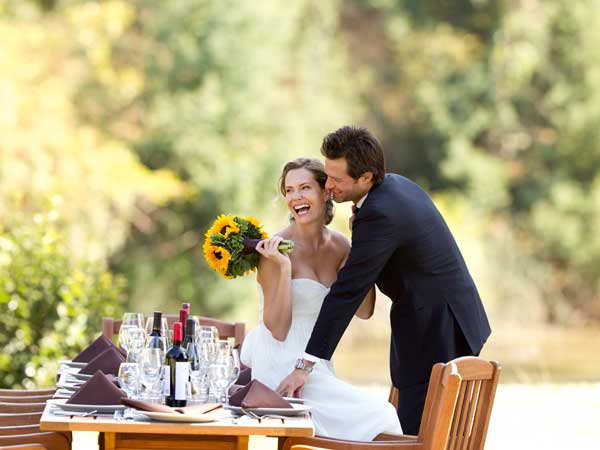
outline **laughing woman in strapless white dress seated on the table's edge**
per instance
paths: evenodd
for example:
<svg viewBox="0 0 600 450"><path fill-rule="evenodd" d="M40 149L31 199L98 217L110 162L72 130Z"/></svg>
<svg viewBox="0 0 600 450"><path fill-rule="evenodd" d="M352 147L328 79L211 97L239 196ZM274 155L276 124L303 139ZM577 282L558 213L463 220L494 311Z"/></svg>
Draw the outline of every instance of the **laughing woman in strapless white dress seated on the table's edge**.
<svg viewBox="0 0 600 450"><path fill-rule="evenodd" d="M326 227L333 203L325 191L327 175L316 159L288 162L280 190L290 211L290 225L256 247L260 323L244 340L241 359L252 367L252 377L276 389L304 352L323 299L350 252L348 239ZM277 250L283 239L294 241L294 251ZM356 315L373 314L372 288ZM335 377L331 361L321 360L304 386L302 397L312 407L316 434L338 439L369 441L379 433L401 433L394 407Z"/></svg>

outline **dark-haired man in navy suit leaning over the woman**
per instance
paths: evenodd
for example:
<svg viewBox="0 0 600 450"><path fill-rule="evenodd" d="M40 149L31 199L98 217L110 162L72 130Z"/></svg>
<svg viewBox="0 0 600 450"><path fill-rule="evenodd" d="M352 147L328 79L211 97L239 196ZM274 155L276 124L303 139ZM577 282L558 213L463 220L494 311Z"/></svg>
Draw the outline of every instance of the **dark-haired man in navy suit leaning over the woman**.
<svg viewBox="0 0 600 450"><path fill-rule="evenodd" d="M446 222L415 183L385 173L379 141L346 126L321 146L326 188L352 201L352 249L324 300L295 370L277 391L299 393L319 359L330 359L369 288L392 300L390 370L403 432L419 433L431 368L478 355L490 335L475 283ZM361 364L360 360L356 364Z"/></svg>

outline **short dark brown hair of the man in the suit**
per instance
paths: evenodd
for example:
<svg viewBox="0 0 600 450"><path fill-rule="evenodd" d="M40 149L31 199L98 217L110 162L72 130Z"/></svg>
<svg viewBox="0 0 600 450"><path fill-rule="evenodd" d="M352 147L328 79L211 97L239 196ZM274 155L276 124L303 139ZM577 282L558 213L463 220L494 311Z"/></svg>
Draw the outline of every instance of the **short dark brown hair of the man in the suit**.
<svg viewBox="0 0 600 450"><path fill-rule="evenodd" d="M357 180L365 172L373 173L373 184L385 176L385 158L377 138L365 127L345 126L329 133L321 144L327 159L346 158L348 175Z"/></svg>

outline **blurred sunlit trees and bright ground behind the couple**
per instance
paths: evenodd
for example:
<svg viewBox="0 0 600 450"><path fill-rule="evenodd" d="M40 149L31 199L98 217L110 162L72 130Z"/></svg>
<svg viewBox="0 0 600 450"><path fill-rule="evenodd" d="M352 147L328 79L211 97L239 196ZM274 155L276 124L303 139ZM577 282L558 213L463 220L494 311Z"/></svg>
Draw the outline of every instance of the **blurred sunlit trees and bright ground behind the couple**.
<svg viewBox="0 0 600 450"><path fill-rule="evenodd" d="M0 1L0 387L50 384L126 310L255 325L254 276L212 272L204 231L285 226L282 165L362 124L484 300L487 448L598 448L599 42L598 0ZM381 395L388 312L335 355Z"/></svg>

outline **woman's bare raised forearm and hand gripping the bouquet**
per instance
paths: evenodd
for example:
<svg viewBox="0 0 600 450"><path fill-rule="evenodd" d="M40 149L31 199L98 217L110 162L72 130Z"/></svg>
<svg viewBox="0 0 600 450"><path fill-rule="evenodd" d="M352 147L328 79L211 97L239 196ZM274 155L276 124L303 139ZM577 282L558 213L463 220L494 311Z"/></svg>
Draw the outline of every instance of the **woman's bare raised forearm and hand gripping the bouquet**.
<svg viewBox="0 0 600 450"><path fill-rule="evenodd" d="M282 240L274 236L256 246L261 254L257 280L264 295L263 322L278 341L285 340L292 324L292 264L277 250Z"/></svg>

